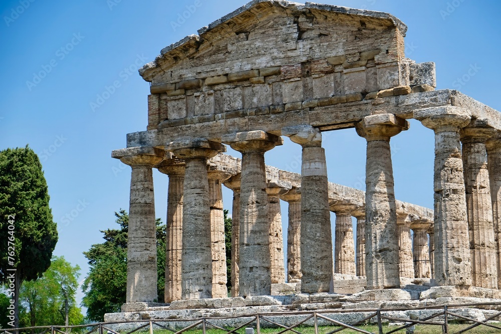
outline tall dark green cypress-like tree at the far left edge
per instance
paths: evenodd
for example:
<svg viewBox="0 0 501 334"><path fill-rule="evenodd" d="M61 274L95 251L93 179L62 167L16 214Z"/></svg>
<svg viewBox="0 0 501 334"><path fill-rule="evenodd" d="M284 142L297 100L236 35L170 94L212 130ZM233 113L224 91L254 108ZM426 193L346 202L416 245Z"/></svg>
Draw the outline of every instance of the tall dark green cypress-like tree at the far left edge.
<svg viewBox="0 0 501 334"><path fill-rule="evenodd" d="M0 283L12 283L13 271L8 269L17 269L16 309L21 284L41 277L49 268L57 240L38 156L28 146L0 151Z"/></svg>

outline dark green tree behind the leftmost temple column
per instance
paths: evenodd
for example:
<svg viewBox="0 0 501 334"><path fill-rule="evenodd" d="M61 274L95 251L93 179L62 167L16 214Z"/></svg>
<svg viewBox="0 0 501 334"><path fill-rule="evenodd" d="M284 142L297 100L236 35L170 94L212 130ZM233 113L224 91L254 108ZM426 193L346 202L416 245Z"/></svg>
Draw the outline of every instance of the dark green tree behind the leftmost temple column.
<svg viewBox="0 0 501 334"><path fill-rule="evenodd" d="M101 231L105 242L84 252L91 268L82 285L85 293L82 305L87 307L87 318L93 321L103 321L105 313L120 312L126 300L129 216L125 210L115 212L115 216L120 229ZM165 225L160 219L156 225L158 300L164 300Z"/></svg>

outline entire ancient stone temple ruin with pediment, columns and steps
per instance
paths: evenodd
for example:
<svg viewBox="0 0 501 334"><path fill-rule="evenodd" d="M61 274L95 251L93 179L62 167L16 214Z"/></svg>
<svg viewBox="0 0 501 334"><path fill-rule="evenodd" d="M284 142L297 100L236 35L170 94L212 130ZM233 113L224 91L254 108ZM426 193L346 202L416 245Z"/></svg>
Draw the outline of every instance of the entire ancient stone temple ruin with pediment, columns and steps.
<svg viewBox="0 0 501 334"><path fill-rule="evenodd" d="M435 90L435 65L405 58L406 30L380 12L254 0L145 65L147 130L112 153L132 178L127 302L106 319L501 299L501 114ZM435 132L434 212L394 196L390 138L406 119ZM327 179L322 132L347 128L367 140L365 192ZM303 148L301 175L265 165L283 137ZM165 304L153 168L169 177ZM231 298L222 185L234 193Z"/></svg>

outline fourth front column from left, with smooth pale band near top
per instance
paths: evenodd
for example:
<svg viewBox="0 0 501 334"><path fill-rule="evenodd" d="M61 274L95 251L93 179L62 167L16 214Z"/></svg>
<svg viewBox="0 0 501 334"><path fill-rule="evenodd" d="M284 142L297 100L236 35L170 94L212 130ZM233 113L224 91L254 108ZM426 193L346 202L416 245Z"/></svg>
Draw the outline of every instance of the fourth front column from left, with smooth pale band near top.
<svg viewBox="0 0 501 334"><path fill-rule="evenodd" d="M325 151L320 131L309 125L282 129L303 147L301 168L301 291L329 292L332 232Z"/></svg>

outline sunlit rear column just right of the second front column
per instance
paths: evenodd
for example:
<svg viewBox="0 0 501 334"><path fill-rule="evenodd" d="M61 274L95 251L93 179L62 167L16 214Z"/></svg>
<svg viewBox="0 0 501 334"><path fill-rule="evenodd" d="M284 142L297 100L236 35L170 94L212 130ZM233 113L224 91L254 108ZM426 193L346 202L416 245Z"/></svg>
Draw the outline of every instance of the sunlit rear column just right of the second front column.
<svg viewBox="0 0 501 334"><path fill-rule="evenodd" d="M224 212L222 182L231 174L209 171L210 240L212 243L212 298L228 296L226 287L226 243L224 240Z"/></svg>

